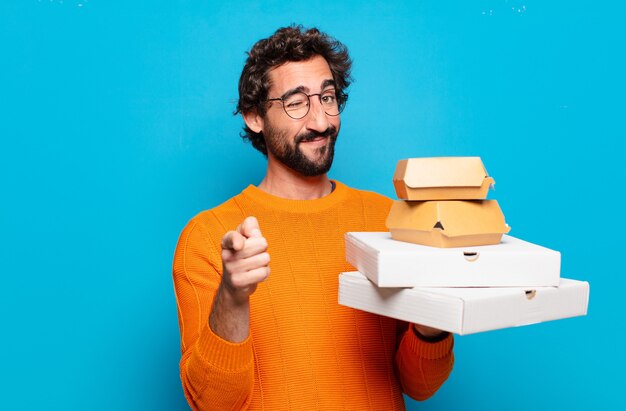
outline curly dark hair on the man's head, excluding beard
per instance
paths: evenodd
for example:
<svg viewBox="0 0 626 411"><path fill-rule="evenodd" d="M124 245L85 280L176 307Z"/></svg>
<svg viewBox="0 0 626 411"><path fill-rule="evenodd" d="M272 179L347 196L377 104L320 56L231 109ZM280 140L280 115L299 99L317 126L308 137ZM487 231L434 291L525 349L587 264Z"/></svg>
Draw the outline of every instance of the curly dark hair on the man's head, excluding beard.
<svg viewBox="0 0 626 411"><path fill-rule="evenodd" d="M282 27L270 37L259 40L247 53L248 58L239 78L239 102L235 114L256 110L265 116L263 102L267 100L270 87L269 72L272 68L291 61L306 61L322 56L330 67L338 97L351 82L352 60L345 45L320 32L316 28L305 30L301 25ZM250 140L254 148L267 156L263 133L255 133L244 125L241 137Z"/></svg>

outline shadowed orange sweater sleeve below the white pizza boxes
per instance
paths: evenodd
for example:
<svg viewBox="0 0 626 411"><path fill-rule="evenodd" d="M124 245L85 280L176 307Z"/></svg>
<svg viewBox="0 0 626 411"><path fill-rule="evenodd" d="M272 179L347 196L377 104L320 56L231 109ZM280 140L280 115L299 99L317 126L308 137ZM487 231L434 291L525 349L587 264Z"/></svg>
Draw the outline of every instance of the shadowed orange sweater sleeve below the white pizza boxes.
<svg viewBox="0 0 626 411"><path fill-rule="evenodd" d="M423 401L435 394L452 372L454 337L449 334L431 343L417 337L412 326L404 329L396 352L396 370L404 393Z"/></svg>

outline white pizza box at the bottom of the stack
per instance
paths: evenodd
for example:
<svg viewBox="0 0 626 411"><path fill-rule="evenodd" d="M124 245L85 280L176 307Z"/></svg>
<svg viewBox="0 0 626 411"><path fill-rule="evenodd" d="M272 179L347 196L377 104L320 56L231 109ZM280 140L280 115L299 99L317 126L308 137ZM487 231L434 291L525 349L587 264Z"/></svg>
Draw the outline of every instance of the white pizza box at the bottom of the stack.
<svg viewBox="0 0 626 411"><path fill-rule="evenodd" d="M339 276L339 304L455 334L587 314L589 283L558 287L380 288L359 272Z"/></svg>

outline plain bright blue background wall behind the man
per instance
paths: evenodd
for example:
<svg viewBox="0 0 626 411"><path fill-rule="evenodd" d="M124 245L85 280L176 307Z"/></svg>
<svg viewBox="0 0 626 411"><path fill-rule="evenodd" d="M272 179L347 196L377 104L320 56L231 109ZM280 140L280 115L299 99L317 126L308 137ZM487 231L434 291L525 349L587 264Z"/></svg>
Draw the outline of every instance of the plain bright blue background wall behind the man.
<svg viewBox="0 0 626 411"><path fill-rule="evenodd" d="M511 234L591 283L586 317L457 337L448 382L408 408L625 409L625 13L3 0L0 408L186 409L174 247L193 215L260 182L232 115L244 51L299 22L354 59L332 178L393 197L401 158L480 156Z"/></svg>

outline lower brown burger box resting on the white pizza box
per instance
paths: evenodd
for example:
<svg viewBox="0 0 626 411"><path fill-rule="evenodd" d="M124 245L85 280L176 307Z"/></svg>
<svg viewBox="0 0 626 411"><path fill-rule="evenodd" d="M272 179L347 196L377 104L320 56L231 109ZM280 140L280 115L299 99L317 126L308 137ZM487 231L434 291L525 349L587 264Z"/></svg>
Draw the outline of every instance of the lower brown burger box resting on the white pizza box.
<svg viewBox="0 0 626 411"><path fill-rule="evenodd" d="M496 200L396 200L387 228L394 240L442 248L498 244L511 229Z"/></svg>

